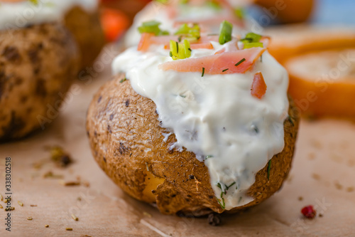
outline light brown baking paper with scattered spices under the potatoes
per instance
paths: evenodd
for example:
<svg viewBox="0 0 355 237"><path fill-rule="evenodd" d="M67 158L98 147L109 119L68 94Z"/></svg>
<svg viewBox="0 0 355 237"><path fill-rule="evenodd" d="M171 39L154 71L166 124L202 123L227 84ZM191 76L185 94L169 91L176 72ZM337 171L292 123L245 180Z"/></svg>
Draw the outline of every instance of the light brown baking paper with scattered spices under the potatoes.
<svg viewBox="0 0 355 237"><path fill-rule="evenodd" d="M107 69L89 83L75 83L80 90L76 88L59 117L44 131L0 144L0 194L5 192L4 159L11 157L16 208L11 212L11 233L5 231L6 212L0 209L0 236L354 236L353 123L302 120L293 169L283 189L242 214L223 215L222 226L209 226L207 218L165 216L131 199L94 162L85 115L92 95L109 80L109 74ZM63 147L75 163L65 169L56 167L46 148L53 145ZM40 169L34 165L38 163ZM79 176L89 186L62 186L58 179L43 178L49 171L62 174L65 181ZM5 206L3 201L0 204ZM302 218L300 209L310 204L322 217ZM28 216L33 220L28 221Z"/></svg>

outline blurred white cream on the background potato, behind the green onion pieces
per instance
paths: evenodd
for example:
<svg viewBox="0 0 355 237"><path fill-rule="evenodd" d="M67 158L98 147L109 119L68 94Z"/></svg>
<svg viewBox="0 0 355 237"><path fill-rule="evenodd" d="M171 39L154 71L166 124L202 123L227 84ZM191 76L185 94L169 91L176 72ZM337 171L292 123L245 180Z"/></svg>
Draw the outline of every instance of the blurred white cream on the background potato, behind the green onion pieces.
<svg viewBox="0 0 355 237"><path fill-rule="evenodd" d="M129 28L126 36L124 37L124 45L126 47L138 45L141 40L141 34L138 32L138 27L145 21L159 21L159 27L162 30L175 33L178 29L174 26L176 21L203 21L212 19L216 16L220 16L222 18L223 16L231 15L226 9L214 9L211 6L185 6L184 4L178 4L177 8L178 16L175 19L171 19L164 4L152 1L135 16L133 25ZM219 33L219 23L221 22L222 19L221 21L217 21L214 26L209 24L209 33ZM248 26L246 26L246 28L249 28L249 22L247 24ZM241 28L239 26L234 26L234 32L240 30Z"/></svg>

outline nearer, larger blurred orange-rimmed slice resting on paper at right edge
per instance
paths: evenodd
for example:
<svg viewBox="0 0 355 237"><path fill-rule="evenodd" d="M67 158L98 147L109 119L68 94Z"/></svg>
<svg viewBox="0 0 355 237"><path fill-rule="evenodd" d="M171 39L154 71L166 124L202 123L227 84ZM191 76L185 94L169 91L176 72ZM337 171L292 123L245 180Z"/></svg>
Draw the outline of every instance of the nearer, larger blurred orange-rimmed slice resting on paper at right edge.
<svg viewBox="0 0 355 237"><path fill-rule="evenodd" d="M355 118L355 47L303 53L283 64L302 113Z"/></svg>

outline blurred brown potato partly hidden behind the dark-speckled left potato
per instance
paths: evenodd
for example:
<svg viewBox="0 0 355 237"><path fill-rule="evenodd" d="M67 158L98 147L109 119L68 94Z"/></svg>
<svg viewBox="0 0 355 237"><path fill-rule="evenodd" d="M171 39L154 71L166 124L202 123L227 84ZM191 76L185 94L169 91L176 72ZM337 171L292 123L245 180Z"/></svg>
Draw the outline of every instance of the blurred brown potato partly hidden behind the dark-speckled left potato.
<svg viewBox="0 0 355 237"><path fill-rule="evenodd" d="M80 68L91 66L105 44L98 12L90 13L80 6L75 6L65 15L64 23L80 48Z"/></svg>

